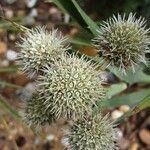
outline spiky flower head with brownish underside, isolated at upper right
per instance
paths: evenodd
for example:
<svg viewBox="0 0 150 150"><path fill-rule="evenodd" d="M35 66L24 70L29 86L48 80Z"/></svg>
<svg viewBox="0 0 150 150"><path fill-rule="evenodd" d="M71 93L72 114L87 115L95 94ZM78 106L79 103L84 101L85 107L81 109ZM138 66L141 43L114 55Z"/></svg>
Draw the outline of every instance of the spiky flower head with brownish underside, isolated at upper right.
<svg viewBox="0 0 150 150"><path fill-rule="evenodd" d="M140 62L146 63L145 53L150 52L150 38L145 22L130 13L128 18L118 14L102 24L94 42L107 65L125 73L130 67L134 71L135 65Z"/></svg>

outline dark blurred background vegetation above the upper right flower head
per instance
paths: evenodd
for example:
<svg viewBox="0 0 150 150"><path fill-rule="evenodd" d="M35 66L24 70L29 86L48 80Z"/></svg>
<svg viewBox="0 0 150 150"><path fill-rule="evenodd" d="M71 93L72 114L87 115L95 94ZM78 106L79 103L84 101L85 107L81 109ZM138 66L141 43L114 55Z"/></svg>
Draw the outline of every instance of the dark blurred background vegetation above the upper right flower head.
<svg viewBox="0 0 150 150"><path fill-rule="evenodd" d="M80 6L96 20L106 20L112 14L136 13L150 26L150 0L77 0Z"/></svg>

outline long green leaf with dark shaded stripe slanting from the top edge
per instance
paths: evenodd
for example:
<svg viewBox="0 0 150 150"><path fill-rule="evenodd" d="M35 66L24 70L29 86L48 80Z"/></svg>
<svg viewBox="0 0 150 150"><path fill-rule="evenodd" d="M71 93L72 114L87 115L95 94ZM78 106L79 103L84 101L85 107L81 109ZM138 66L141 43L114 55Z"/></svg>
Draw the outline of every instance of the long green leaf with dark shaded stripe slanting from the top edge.
<svg viewBox="0 0 150 150"><path fill-rule="evenodd" d="M86 15L86 13L80 8L75 0L47 0L48 2L54 2L60 9L67 12L77 23L90 30L94 35L97 35L98 25L92 21L92 19Z"/></svg>

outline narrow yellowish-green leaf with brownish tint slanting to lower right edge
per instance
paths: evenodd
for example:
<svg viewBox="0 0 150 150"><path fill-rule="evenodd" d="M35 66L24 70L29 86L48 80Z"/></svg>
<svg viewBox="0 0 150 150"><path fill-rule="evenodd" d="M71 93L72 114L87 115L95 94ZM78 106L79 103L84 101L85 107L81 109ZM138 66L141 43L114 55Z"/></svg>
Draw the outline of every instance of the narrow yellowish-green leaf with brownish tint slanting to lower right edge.
<svg viewBox="0 0 150 150"><path fill-rule="evenodd" d="M120 123L121 121L125 120L127 117L135 115L136 113L140 112L141 110L150 107L150 95L144 98L141 102L139 102L135 107L133 107L130 111L125 113L123 116L116 120L116 123Z"/></svg>

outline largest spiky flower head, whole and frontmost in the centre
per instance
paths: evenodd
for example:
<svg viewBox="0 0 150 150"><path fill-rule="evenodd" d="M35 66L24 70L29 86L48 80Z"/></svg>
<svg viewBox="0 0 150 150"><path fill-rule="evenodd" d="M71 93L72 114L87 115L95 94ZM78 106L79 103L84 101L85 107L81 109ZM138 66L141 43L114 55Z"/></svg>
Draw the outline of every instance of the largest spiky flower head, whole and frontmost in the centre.
<svg viewBox="0 0 150 150"><path fill-rule="evenodd" d="M76 118L91 111L97 100L104 97L99 72L91 61L65 56L43 69L38 85L45 106L52 108L56 118Z"/></svg>

